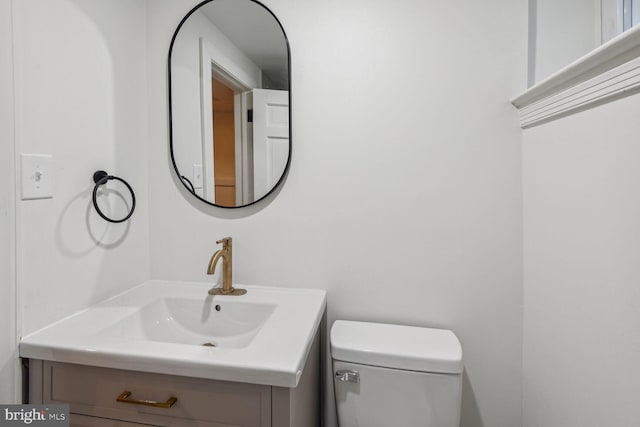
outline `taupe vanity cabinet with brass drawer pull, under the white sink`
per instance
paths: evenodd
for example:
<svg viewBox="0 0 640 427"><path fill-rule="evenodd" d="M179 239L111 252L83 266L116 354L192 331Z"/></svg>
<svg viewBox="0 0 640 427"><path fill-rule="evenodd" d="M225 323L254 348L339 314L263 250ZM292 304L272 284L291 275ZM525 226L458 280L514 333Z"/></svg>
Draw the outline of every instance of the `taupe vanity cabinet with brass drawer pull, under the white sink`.
<svg viewBox="0 0 640 427"><path fill-rule="evenodd" d="M31 359L31 404L69 404L72 426L318 427L320 345L314 340L298 387L285 388ZM166 402L170 408L118 402Z"/></svg>

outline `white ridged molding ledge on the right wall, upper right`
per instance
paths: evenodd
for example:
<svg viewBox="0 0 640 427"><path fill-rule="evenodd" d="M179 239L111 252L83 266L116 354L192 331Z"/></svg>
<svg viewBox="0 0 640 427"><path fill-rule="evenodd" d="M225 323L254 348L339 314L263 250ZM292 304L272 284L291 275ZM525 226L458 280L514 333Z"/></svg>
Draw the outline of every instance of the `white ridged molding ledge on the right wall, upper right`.
<svg viewBox="0 0 640 427"><path fill-rule="evenodd" d="M640 91L640 26L511 100L527 128Z"/></svg>

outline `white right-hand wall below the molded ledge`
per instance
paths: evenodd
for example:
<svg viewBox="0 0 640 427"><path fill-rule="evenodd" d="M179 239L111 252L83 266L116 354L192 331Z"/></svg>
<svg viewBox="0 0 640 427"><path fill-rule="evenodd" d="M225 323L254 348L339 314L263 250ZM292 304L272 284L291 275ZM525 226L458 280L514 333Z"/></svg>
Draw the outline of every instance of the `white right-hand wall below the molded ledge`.
<svg viewBox="0 0 640 427"><path fill-rule="evenodd" d="M524 132L525 427L638 425L639 110Z"/></svg>

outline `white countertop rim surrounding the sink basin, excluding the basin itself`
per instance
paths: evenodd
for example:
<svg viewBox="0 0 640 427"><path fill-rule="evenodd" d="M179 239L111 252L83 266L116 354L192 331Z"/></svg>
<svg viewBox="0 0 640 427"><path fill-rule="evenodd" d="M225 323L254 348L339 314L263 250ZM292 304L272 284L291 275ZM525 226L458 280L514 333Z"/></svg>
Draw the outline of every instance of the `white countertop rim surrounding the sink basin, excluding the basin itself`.
<svg viewBox="0 0 640 427"><path fill-rule="evenodd" d="M318 289L236 287L243 296L208 296L207 283L152 280L75 313L22 339L20 356L106 368L296 387L326 307ZM131 339L102 334L162 298L202 300L213 310L225 301L275 304L242 348Z"/></svg>

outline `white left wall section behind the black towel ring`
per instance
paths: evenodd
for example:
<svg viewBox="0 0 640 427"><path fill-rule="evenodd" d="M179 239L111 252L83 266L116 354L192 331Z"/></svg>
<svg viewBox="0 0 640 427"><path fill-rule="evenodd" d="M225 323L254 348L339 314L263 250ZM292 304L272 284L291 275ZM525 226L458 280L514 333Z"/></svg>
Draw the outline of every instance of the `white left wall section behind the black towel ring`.
<svg viewBox="0 0 640 427"><path fill-rule="evenodd" d="M149 276L145 2L13 3L17 150L52 154L56 165L53 199L18 202L27 334ZM98 169L136 190L126 225L93 210Z"/></svg>

